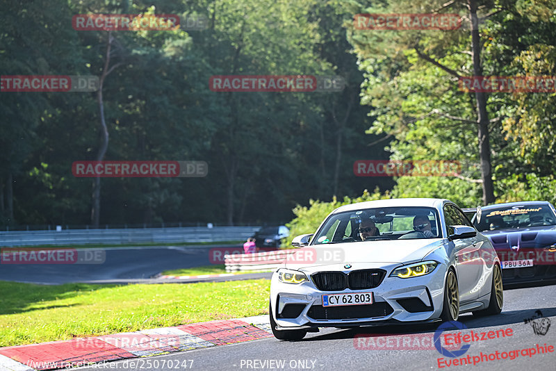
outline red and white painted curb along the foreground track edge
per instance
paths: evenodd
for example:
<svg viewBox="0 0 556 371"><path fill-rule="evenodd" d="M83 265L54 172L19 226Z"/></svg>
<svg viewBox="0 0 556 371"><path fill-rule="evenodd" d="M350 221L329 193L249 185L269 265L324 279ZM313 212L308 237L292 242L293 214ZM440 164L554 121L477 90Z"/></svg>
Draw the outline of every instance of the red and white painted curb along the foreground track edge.
<svg viewBox="0 0 556 371"><path fill-rule="evenodd" d="M0 348L0 371L56 370L272 337L268 315Z"/></svg>

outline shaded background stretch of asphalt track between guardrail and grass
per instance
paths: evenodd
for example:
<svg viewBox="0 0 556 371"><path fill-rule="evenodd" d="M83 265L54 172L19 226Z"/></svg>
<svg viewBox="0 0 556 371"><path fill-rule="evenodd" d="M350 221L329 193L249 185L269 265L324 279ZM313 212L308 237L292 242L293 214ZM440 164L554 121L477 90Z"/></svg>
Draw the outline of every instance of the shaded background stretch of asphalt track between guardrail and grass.
<svg viewBox="0 0 556 371"><path fill-rule="evenodd" d="M207 246L114 247L101 249L106 252L101 264L0 264L0 281L159 283L161 280L150 278L163 270L210 265L210 249Z"/></svg>

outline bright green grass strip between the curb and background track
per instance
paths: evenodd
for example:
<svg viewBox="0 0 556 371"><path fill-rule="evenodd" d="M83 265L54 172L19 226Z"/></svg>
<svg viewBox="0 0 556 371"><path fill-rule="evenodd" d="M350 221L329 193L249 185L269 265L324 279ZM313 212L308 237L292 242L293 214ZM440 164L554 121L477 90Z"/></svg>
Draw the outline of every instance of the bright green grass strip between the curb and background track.
<svg viewBox="0 0 556 371"><path fill-rule="evenodd" d="M40 286L0 281L0 347L268 313L270 281Z"/></svg>

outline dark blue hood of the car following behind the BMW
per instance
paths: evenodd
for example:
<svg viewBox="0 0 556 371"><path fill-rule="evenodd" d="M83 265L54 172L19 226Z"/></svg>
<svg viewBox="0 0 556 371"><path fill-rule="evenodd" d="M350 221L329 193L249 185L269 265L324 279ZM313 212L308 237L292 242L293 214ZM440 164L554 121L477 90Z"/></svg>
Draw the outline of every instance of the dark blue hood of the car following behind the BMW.
<svg viewBox="0 0 556 371"><path fill-rule="evenodd" d="M556 226L532 226L523 229L502 229L481 232L497 250L536 249L556 243Z"/></svg>

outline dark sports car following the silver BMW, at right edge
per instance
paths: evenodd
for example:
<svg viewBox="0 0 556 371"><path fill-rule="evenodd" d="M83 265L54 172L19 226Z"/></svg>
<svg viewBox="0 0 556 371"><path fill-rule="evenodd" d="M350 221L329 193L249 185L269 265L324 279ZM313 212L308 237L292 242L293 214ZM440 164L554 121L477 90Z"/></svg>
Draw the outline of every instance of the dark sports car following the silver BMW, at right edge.
<svg viewBox="0 0 556 371"><path fill-rule="evenodd" d="M472 221L496 249L504 284L556 281L556 209L550 202L483 206Z"/></svg>

